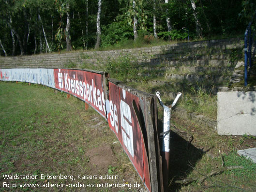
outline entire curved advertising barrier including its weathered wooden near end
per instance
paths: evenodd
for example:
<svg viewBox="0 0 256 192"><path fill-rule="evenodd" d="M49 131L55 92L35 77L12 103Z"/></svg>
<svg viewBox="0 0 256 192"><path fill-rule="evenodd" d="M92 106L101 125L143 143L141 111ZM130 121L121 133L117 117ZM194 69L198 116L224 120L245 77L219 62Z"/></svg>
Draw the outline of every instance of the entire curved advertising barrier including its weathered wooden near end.
<svg viewBox="0 0 256 192"><path fill-rule="evenodd" d="M91 70L0 69L0 80L45 85L90 104L108 121L146 188L164 191L154 95Z"/></svg>

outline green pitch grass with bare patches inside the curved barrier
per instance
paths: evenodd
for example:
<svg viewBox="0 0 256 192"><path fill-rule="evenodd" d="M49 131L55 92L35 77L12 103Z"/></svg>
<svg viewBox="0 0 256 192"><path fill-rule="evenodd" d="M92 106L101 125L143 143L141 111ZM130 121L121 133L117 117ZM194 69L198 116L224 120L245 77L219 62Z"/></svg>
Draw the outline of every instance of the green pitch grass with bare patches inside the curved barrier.
<svg viewBox="0 0 256 192"><path fill-rule="evenodd" d="M107 122L84 102L41 85L0 82L0 191L128 191L128 188L3 188L5 183L46 185L131 183L142 186ZM4 179L3 174L36 179ZM41 177L74 176L51 179ZM77 175L115 179L78 179ZM138 190L132 188L131 190Z"/></svg>

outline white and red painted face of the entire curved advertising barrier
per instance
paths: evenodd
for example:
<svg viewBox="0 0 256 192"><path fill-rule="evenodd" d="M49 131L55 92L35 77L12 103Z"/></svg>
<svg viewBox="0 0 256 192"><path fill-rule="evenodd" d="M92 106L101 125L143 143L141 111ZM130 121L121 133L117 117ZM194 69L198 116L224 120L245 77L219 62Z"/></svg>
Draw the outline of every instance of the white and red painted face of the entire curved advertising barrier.
<svg viewBox="0 0 256 192"><path fill-rule="evenodd" d="M141 121L144 119L137 117L138 114L136 114L143 114L139 110L141 110L140 103L144 101L139 96L109 81L109 100L107 100L105 74L84 70L0 69L0 80L42 84L70 93L90 104L107 119L111 130L116 134L145 186L151 191L147 144L143 139L147 136L143 137L142 129L144 128L140 127L142 125L138 122L138 119Z"/></svg>

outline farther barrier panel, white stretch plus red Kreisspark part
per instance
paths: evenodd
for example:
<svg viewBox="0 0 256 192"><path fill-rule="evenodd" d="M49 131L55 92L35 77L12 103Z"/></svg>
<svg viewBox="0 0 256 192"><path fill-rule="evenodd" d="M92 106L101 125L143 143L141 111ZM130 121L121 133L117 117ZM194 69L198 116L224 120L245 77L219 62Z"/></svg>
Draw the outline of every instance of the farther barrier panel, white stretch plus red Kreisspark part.
<svg viewBox="0 0 256 192"><path fill-rule="evenodd" d="M106 118L104 74L70 69L0 69L0 80L45 85L65 91L90 104Z"/></svg>

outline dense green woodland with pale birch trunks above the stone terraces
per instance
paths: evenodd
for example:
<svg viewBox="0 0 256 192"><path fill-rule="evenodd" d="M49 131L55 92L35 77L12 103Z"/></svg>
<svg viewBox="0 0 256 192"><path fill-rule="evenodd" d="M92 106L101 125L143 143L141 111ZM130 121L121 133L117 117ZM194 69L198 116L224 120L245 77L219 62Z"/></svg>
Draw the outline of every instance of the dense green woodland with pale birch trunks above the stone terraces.
<svg viewBox="0 0 256 192"><path fill-rule="evenodd" d="M182 40L188 32L190 39L242 35L255 1L1 0L0 55L107 47L144 36Z"/></svg>

